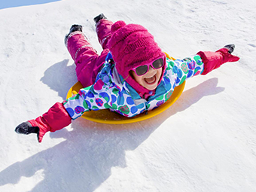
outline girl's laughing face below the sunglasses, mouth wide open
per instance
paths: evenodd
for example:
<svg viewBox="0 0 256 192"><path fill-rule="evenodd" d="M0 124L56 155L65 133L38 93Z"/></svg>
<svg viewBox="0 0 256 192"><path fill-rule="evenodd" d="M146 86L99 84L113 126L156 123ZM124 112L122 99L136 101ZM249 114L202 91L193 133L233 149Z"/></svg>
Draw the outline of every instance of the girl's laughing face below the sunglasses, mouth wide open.
<svg viewBox="0 0 256 192"><path fill-rule="evenodd" d="M160 69L153 69L150 66L148 72L142 76L136 75L136 72L131 72L135 81L137 81L142 87L145 87L148 90L155 90L157 88L158 82L160 81L163 67Z"/></svg>

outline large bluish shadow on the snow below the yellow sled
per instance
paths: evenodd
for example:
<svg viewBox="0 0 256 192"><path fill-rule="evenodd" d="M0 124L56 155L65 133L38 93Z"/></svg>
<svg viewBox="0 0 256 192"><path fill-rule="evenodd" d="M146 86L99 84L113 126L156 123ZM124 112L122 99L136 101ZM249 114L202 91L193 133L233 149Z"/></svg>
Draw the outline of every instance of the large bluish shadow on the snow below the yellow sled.
<svg viewBox="0 0 256 192"><path fill-rule="evenodd" d="M66 61L60 63L57 68L66 65ZM217 87L217 84L218 78L212 78L184 91L171 108L147 121L102 127L101 123L82 118L75 120L72 131L63 129L50 133L51 138L66 141L2 170L0 186L18 184L22 177L35 176L42 170L43 180L30 192L94 191L108 179L113 167L126 167L126 151L138 148L166 119L194 105L203 96L224 91L224 87Z"/></svg>

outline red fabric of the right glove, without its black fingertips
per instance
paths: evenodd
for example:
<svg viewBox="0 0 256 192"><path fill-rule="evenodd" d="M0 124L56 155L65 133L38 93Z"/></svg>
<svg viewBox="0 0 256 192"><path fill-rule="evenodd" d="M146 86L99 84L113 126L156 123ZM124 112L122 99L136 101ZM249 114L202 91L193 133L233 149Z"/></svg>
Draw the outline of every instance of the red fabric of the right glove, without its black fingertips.
<svg viewBox="0 0 256 192"><path fill-rule="evenodd" d="M226 48L217 50L216 52L212 51L200 51L197 53L202 58L204 64L204 70L202 75L206 75L212 70L219 68L225 62L236 62L240 58L238 56L233 56L228 53Z"/></svg>

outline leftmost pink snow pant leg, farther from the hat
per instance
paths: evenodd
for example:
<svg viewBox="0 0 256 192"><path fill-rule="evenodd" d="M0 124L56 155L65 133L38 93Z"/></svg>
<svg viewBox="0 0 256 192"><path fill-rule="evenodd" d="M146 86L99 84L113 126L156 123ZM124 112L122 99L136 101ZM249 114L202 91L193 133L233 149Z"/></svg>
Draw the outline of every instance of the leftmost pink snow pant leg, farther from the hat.
<svg viewBox="0 0 256 192"><path fill-rule="evenodd" d="M67 48L75 61L78 81L84 87L94 84L109 50L103 50L99 56L82 32L69 35Z"/></svg>

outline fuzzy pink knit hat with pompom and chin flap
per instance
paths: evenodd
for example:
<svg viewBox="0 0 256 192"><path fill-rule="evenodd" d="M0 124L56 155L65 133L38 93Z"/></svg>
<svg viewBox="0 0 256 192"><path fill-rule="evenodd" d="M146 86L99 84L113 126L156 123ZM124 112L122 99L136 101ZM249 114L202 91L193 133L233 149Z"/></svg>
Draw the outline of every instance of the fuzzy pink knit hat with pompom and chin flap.
<svg viewBox="0 0 256 192"><path fill-rule="evenodd" d="M111 33L108 48L116 63L117 72L137 92L144 95L149 90L133 80L129 76L129 72L136 66L142 66L160 56L165 56L165 53L158 47L153 35L143 26L137 24L126 25L124 21L120 20L111 26ZM163 78L163 75L161 78Z"/></svg>

